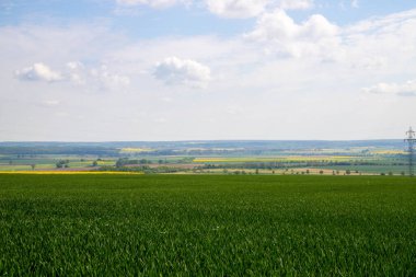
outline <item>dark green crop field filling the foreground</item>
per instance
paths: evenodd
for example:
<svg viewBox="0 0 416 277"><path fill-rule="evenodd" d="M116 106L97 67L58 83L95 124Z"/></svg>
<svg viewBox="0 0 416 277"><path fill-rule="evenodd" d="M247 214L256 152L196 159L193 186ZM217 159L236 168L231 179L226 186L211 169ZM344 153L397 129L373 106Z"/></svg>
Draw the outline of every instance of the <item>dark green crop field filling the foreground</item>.
<svg viewBox="0 0 416 277"><path fill-rule="evenodd" d="M0 174L0 276L415 276L416 180Z"/></svg>

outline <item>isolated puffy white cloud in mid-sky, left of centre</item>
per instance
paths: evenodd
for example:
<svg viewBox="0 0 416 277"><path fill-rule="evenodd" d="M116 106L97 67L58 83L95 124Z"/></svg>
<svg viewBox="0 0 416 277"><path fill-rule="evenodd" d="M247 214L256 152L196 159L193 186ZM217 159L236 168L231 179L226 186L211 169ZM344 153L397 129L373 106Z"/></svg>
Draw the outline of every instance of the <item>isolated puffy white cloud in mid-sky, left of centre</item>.
<svg viewBox="0 0 416 277"><path fill-rule="evenodd" d="M209 67L192 59L170 57L157 64L154 77L165 84L206 88L211 79Z"/></svg>

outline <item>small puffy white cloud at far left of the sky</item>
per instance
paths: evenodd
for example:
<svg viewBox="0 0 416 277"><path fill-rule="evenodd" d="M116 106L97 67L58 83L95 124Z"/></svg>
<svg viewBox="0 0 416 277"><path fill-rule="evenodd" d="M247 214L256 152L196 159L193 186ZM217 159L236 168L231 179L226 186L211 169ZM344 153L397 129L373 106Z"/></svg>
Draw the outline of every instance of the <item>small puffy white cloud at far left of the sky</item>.
<svg viewBox="0 0 416 277"><path fill-rule="evenodd" d="M25 81L55 82L62 80L60 72L51 70L47 65L43 62L36 62L33 66L16 70L15 76L20 80Z"/></svg>

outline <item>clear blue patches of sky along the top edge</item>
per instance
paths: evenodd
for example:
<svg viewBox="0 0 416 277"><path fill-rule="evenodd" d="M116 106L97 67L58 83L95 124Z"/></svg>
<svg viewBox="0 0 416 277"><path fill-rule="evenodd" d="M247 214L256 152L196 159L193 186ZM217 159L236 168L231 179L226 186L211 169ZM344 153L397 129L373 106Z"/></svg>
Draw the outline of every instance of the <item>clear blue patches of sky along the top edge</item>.
<svg viewBox="0 0 416 277"><path fill-rule="evenodd" d="M383 16L416 7L412 0L360 0L357 5L350 0L320 0L307 10L291 10L288 13L303 21L313 13L322 13L338 25L354 24L371 16ZM163 35L238 35L251 28L255 18L224 19L216 16L198 1L188 5L173 5L169 9L152 9L146 4L120 5L104 0L3 0L0 3L0 24L57 24L105 21L115 30L128 32L135 38Z"/></svg>

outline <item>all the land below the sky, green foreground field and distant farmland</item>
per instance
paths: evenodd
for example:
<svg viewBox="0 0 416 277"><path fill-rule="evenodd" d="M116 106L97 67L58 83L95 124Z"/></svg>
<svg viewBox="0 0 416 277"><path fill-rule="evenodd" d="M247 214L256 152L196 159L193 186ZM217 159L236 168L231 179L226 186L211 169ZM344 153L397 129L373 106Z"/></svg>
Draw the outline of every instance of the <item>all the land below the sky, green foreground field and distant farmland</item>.
<svg viewBox="0 0 416 277"><path fill-rule="evenodd" d="M0 274L413 276L403 143L3 142Z"/></svg>

